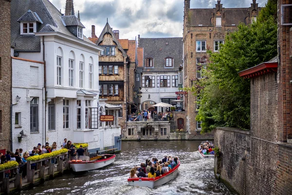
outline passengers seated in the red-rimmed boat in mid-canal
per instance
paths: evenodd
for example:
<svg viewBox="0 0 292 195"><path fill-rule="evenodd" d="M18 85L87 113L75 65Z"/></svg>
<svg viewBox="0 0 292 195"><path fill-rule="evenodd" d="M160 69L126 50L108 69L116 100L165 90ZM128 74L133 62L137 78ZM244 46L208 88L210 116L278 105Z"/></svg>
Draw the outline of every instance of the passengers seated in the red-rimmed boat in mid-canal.
<svg viewBox="0 0 292 195"><path fill-rule="evenodd" d="M178 157L164 156L160 161L153 157L152 160L146 159L146 163L142 162L140 167L136 166L131 169L129 178L155 178L164 175L177 165Z"/></svg>

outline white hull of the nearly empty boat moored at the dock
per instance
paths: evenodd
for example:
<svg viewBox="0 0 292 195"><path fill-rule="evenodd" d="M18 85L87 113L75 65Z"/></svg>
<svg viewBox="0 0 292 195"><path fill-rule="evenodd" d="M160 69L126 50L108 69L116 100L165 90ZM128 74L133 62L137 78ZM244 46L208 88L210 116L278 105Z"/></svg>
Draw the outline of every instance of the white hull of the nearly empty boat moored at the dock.
<svg viewBox="0 0 292 195"><path fill-rule="evenodd" d="M82 162L69 162L74 172L89 171L93 169L99 169L108 166L114 162L115 155L110 158L94 161L82 161Z"/></svg>

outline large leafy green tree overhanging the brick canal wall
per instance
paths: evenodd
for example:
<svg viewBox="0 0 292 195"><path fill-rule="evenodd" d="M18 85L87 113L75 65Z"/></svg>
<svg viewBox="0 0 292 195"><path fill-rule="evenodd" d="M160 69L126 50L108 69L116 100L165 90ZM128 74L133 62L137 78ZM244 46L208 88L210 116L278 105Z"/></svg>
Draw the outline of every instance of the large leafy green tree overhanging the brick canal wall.
<svg viewBox="0 0 292 195"><path fill-rule="evenodd" d="M202 121L201 133L215 127L250 128L250 80L238 72L268 61L277 55L277 24L273 17L251 25L239 25L226 36L220 52L208 51L209 64L204 78L189 89L200 95L196 120Z"/></svg>

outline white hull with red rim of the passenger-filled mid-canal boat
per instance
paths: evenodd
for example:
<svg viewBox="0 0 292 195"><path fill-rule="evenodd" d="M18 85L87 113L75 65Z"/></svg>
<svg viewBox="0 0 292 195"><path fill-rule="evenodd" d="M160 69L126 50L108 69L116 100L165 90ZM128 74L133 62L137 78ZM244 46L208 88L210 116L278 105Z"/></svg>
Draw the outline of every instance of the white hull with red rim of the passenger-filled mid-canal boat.
<svg viewBox="0 0 292 195"><path fill-rule="evenodd" d="M155 186L163 185L164 183L176 178L179 171L181 162L178 161L178 165L171 169L168 173L155 178L141 177L141 178L128 178L128 184L130 186L144 186L148 188L154 188Z"/></svg>

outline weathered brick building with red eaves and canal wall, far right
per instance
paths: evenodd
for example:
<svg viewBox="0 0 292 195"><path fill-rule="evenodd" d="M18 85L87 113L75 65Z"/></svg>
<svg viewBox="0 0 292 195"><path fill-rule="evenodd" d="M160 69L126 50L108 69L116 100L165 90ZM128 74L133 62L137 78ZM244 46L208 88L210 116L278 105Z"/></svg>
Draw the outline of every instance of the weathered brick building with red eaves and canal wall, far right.
<svg viewBox="0 0 292 195"><path fill-rule="evenodd" d="M214 133L215 174L239 195L292 191L292 0L278 0L277 10L278 56L239 73L251 83L250 131Z"/></svg>

